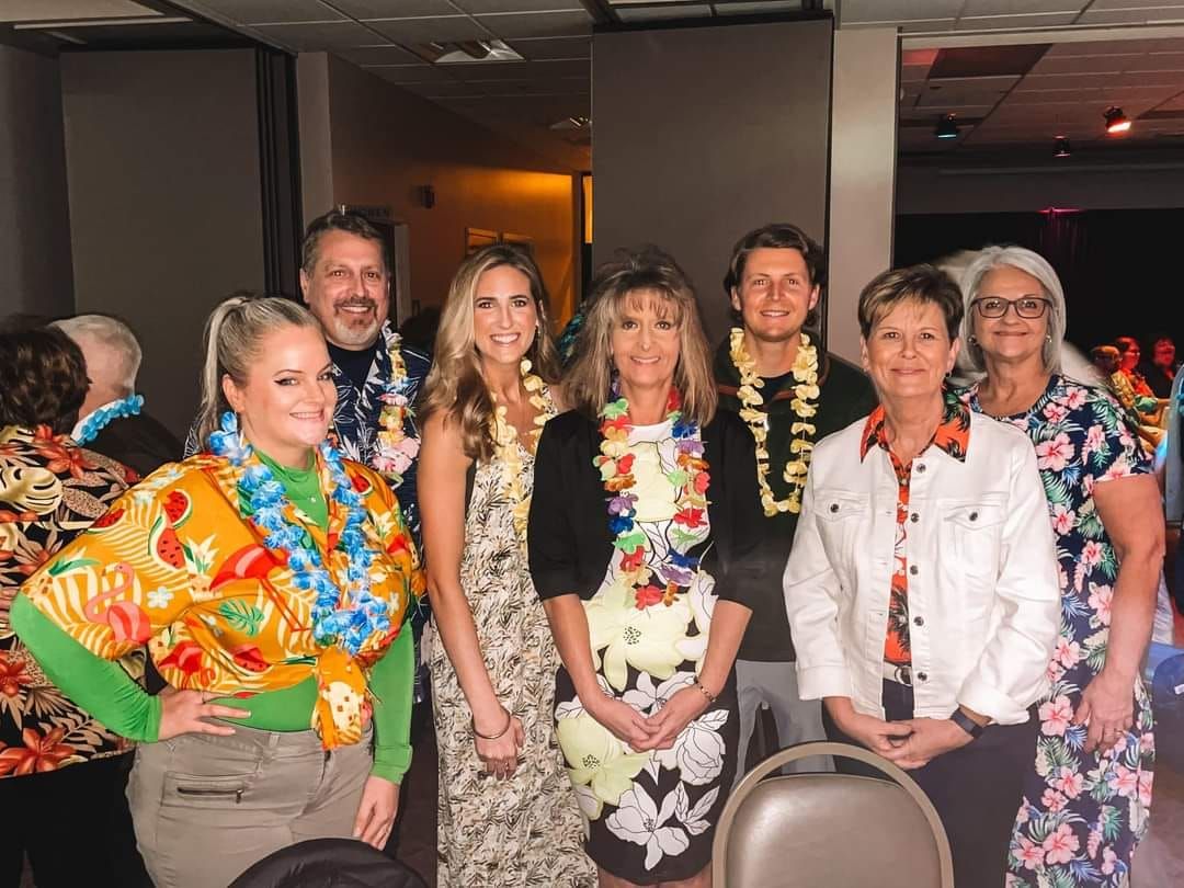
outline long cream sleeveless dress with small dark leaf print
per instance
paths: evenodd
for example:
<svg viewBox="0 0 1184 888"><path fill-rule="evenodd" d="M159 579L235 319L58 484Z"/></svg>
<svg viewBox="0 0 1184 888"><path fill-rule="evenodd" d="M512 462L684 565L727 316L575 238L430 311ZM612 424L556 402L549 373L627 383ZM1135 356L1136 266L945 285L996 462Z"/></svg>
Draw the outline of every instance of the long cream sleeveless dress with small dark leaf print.
<svg viewBox="0 0 1184 888"><path fill-rule="evenodd" d="M526 742L513 777L498 780L485 773L474 746L469 703L437 638L430 665L439 748L439 888L596 884L551 719L559 652L523 551L521 522L534 490L534 455L516 446L517 466L497 459L476 466L461 586L494 693L522 721ZM517 497L509 495L515 477Z"/></svg>

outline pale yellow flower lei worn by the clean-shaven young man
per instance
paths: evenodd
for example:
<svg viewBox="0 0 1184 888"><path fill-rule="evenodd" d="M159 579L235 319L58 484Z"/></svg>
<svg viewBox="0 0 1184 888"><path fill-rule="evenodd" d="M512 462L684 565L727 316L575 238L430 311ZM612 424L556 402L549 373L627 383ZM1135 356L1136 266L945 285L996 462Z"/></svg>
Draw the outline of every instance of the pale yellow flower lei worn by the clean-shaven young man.
<svg viewBox="0 0 1184 888"><path fill-rule="evenodd" d="M802 488L805 487L806 471L813 451L811 436L817 431L815 425L806 420L818 412L818 349L803 333L797 358L790 371L794 384L791 407L797 418L790 426L790 435L793 436L790 439L790 459L785 463L785 471L781 472L785 483L790 485L790 493L784 500L777 500L767 480L770 456L765 444L768 437L768 414L760 408L765 399L759 390L764 387L765 380L757 374L757 361L744 347L744 330L740 327L732 328L728 345L732 362L740 372L740 387L736 390L736 397L740 399L740 418L748 424L757 442L757 483L760 484L761 508L766 517L781 511L797 514L802 511Z"/></svg>

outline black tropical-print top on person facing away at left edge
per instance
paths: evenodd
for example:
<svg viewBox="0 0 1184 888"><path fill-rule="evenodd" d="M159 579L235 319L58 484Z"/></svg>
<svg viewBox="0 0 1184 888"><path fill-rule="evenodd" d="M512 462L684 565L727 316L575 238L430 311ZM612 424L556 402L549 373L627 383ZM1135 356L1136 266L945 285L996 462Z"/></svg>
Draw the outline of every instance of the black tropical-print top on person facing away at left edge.
<svg viewBox="0 0 1184 888"><path fill-rule="evenodd" d="M47 427L0 430L0 778L131 749L53 686L8 625L20 586L107 511L128 482L120 463ZM143 655L123 667L139 680Z"/></svg>

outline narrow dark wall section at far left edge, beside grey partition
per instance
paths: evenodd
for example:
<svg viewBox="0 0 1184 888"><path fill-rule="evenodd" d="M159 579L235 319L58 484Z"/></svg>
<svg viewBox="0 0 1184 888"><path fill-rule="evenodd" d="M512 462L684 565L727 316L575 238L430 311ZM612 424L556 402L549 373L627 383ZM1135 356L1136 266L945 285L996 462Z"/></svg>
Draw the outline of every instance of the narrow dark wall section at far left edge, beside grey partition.
<svg viewBox="0 0 1184 888"><path fill-rule="evenodd" d="M58 62L0 46L0 316L73 310Z"/></svg>

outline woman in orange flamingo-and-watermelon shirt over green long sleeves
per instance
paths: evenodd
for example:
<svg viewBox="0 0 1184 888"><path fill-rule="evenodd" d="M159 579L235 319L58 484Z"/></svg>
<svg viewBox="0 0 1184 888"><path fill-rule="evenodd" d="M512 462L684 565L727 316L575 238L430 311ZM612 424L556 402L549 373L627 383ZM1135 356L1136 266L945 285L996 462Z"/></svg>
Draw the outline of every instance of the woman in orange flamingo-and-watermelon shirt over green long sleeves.
<svg viewBox="0 0 1184 888"><path fill-rule="evenodd" d="M411 759L400 630L423 581L386 483L326 440L316 320L227 300L204 394L211 452L117 500L12 609L46 674L142 742L128 794L159 888L221 888L307 838L381 848ZM156 697L114 662L143 644Z"/></svg>

